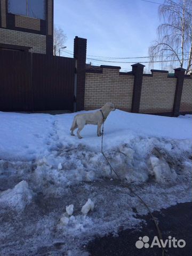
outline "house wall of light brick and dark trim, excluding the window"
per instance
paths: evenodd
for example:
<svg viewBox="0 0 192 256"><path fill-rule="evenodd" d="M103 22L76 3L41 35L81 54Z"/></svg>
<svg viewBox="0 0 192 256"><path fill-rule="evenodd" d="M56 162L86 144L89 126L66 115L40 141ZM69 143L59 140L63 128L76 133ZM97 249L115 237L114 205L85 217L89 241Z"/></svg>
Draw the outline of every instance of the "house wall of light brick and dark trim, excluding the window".
<svg viewBox="0 0 192 256"><path fill-rule="evenodd" d="M41 20L8 13L7 0L0 0L1 47L25 46L35 53L53 54L53 0L45 4L46 19Z"/></svg>

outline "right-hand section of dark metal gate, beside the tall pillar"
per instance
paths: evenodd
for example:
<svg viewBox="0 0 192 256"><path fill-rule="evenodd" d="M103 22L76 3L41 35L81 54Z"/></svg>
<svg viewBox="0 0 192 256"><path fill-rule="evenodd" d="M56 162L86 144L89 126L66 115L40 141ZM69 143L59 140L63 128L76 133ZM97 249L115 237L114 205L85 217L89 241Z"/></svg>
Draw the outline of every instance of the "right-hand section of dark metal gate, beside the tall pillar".
<svg viewBox="0 0 192 256"><path fill-rule="evenodd" d="M73 111L75 59L33 54L34 110Z"/></svg>

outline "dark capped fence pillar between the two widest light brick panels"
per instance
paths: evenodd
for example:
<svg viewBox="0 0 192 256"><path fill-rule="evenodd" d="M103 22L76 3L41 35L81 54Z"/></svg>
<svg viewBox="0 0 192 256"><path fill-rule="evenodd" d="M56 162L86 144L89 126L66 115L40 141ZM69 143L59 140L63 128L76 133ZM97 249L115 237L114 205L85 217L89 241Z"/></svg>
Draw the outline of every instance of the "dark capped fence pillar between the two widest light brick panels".
<svg viewBox="0 0 192 256"><path fill-rule="evenodd" d="M132 73L134 75L134 85L133 85L133 98L132 98L132 112L139 113L139 105L141 98L141 87L142 87L142 75L144 65L136 63L131 65Z"/></svg>

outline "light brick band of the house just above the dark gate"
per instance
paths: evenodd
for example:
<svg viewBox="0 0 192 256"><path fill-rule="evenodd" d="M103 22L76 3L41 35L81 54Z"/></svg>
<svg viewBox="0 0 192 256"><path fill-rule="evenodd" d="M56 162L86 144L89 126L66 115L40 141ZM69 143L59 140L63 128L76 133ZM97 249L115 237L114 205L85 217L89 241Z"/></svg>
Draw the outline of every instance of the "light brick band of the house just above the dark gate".
<svg viewBox="0 0 192 256"><path fill-rule="evenodd" d="M46 36L0 28L1 43L33 47L32 51L46 53Z"/></svg>

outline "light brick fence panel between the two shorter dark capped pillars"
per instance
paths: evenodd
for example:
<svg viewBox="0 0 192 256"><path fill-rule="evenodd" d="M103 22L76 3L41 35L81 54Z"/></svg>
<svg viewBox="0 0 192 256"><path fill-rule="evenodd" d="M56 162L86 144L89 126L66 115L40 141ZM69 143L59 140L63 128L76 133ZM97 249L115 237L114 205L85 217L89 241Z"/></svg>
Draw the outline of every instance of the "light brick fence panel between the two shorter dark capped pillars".
<svg viewBox="0 0 192 256"><path fill-rule="evenodd" d="M151 76L143 75L140 113L172 112L177 78L167 73L153 71Z"/></svg>

